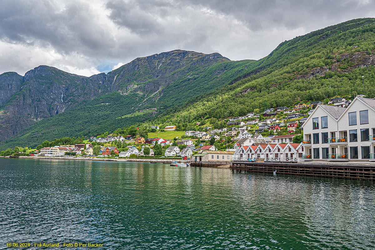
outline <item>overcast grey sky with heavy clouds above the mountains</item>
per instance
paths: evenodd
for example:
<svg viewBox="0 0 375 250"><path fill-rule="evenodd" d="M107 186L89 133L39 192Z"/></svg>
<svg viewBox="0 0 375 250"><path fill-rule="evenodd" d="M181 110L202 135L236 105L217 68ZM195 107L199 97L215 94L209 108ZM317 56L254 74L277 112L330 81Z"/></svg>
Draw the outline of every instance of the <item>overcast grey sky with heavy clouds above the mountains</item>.
<svg viewBox="0 0 375 250"><path fill-rule="evenodd" d="M2 0L0 73L90 76L173 49L260 59L282 39L374 16L374 0Z"/></svg>

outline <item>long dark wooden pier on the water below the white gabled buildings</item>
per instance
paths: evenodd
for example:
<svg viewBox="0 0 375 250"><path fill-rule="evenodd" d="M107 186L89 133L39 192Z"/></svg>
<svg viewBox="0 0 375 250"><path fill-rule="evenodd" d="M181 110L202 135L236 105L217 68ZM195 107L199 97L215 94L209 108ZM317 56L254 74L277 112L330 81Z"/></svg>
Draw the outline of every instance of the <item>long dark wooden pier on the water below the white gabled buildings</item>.
<svg viewBox="0 0 375 250"><path fill-rule="evenodd" d="M276 171L276 174L375 180L375 165L231 162L230 169L238 172L272 174Z"/></svg>

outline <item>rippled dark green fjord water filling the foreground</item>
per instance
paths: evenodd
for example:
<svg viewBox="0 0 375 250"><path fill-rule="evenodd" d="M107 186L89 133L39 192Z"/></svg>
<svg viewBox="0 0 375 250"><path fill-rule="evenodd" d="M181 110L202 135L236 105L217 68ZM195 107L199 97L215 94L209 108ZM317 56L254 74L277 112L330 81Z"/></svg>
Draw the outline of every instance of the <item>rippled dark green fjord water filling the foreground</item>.
<svg viewBox="0 0 375 250"><path fill-rule="evenodd" d="M23 159L0 177L0 249L375 249L371 182Z"/></svg>

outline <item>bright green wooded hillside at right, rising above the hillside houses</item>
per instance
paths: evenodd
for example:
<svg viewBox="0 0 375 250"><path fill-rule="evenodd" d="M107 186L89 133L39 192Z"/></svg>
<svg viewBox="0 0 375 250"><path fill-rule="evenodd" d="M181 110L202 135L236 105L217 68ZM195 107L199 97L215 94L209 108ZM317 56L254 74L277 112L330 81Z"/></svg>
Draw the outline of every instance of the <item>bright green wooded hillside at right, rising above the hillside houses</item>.
<svg viewBox="0 0 375 250"><path fill-rule="evenodd" d="M252 75L169 114L158 124L245 115L337 95L375 97L375 19L355 19L281 43ZM358 46L355 47L354 46ZM362 76L364 76L362 78Z"/></svg>

